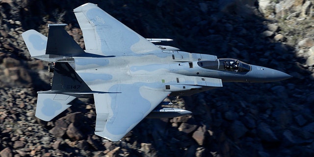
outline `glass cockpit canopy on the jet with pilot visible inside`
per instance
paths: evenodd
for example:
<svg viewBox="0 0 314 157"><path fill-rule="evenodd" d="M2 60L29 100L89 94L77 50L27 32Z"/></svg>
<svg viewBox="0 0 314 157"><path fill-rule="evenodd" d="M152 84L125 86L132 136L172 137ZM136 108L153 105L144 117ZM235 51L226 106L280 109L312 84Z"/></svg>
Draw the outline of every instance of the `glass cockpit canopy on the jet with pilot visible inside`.
<svg viewBox="0 0 314 157"><path fill-rule="evenodd" d="M244 73L251 71L251 65L241 62L237 59L220 58L215 61L204 60L198 61L197 64L206 69L220 70L220 71L231 71L237 73Z"/></svg>

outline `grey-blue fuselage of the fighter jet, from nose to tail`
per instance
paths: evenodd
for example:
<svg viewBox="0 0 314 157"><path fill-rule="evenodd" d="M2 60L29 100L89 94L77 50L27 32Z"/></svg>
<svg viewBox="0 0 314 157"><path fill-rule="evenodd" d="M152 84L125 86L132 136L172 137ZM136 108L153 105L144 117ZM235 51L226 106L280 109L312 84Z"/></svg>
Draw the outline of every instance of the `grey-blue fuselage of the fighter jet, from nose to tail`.
<svg viewBox="0 0 314 157"><path fill-rule="evenodd" d="M147 88L170 91L172 95L191 95L221 87L222 82L270 82L290 78L286 73L236 59L180 51L73 58L72 62L69 59L67 62L93 91L103 91L102 84L134 84L135 80ZM119 73L112 73L113 69Z"/></svg>

